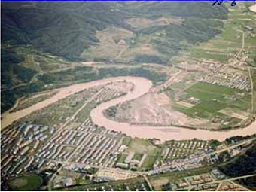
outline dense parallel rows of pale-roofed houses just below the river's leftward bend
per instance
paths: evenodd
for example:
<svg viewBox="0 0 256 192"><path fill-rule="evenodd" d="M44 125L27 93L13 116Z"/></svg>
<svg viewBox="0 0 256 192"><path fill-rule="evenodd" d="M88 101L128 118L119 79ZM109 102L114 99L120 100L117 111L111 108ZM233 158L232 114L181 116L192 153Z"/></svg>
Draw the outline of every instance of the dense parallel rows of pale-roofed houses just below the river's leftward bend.
<svg viewBox="0 0 256 192"><path fill-rule="evenodd" d="M66 161L72 157L76 163L114 166L122 135L91 124L87 119L72 130L60 130L38 150L36 156L56 161ZM76 155L73 154L75 148Z"/></svg>

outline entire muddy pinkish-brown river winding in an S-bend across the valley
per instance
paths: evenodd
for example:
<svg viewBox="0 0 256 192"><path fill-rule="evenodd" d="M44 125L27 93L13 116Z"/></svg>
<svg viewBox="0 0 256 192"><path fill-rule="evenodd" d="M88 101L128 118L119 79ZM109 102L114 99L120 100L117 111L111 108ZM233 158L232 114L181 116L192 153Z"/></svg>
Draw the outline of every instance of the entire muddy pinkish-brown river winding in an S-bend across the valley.
<svg viewBox="0 0 256 192"><path fill-rule="evenodd" d="M157 138L162 142L170 139L218 139L223 141L226 138L231 136L248 136L252 134L256 134L256 122L251 123L251 125L236 130L229 131L209 131L209 130L190 130L186 128L179 128L175 126L142 126L142 125L131 125L130 123L120 123L114 120L109 120L104 117L102 111L105 109L116 105L121 102L130 101L132 99L136 99L139 96L148 93L151 89L152 83L148 79L145 78L137 78L137 77L117 77L117 78L108 78L99 81L93 81L83 84L74 84L69 87L63 87L59 89L59 92L56 93L50 99L46 99L42 102L39 102L36 105L32 105L29 108L23 109L21 111L17 111L14 113L5 113L2 115L1 126L4 129L6 126L13 123L15 120L19 120L22 117L32 113L33 111L40 110L41 108L46 107L47 105L52 104L53 102L57 102L59 99L63 99L66 96L77 93L81 90L88 89L90 87L99 86L102 84L114 82L114 81L127 81L134 84L134 88L132 91L127 93L124 96L120 96L117 99L112 99L111 101L104 102L98 105L90 112L90 116L92 117L93 123L99 126L105 126L108 130L120 131L122 133L126 133L128 136L134 136L139 138Z"/></svg>

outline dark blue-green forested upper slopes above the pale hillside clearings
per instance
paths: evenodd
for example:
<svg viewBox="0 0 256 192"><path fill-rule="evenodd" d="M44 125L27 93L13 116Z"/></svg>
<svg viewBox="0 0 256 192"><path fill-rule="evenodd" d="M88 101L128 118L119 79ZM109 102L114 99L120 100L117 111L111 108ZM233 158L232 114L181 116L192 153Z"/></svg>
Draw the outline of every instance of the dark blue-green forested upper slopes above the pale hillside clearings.
<svg viewBox="0 0 256 192"><path fill-rule="evenodd" d="M2 2L2 42L33 44L45 52L67 59L79 59L83 50L98 42L96 30L108 26L131 29L123 23L130 17L150 18L163 14L220 19L227 17L224 7L212 7L211 2L145 4L147 2ZM208 26L207 23L203 25L206 28Z"/></svg>

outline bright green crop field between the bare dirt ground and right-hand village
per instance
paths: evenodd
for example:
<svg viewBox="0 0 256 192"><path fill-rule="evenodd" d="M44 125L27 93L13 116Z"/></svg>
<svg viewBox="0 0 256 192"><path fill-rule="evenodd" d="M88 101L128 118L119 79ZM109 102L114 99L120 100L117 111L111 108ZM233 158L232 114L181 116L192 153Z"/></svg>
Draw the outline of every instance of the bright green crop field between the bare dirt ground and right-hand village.
<svg viewBox="0 0 256 192"><path fill-rule="evenodd" d="M235 96L238 93L243 93L244 95L237 97L236 100L230 99L231 96ZM224 108L251 112L249 111L251 108L251 95L241 90L213 84L197 83L184 90L184 98L188 99L190 97L200 99L200 102L192 108L184 108L181 105L175 104L173 107L190 117L197 116L202 118L216 117L218 116L218 111ZM237 123L237 120L233 120L233 118L230 118L230 120L233 123Z"/></svg>

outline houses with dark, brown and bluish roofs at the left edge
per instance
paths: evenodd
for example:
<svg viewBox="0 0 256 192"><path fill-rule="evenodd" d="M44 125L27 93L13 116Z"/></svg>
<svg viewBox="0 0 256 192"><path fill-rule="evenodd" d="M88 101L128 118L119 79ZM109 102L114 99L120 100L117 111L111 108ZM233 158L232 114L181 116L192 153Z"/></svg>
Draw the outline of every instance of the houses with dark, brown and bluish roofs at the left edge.
<svg viewBox="0 0 256 192"><path fill-rule="evenodd" d="M26 170L34 160L29 156L35 152L40 142L47 139L54 131L53 127L36 125L31 122L20 123L13 129L3 130L2 175L20 174Z"/></svg>

